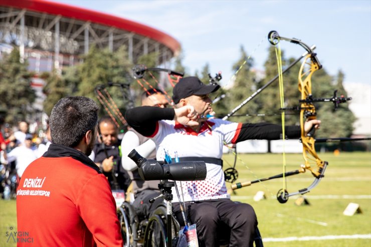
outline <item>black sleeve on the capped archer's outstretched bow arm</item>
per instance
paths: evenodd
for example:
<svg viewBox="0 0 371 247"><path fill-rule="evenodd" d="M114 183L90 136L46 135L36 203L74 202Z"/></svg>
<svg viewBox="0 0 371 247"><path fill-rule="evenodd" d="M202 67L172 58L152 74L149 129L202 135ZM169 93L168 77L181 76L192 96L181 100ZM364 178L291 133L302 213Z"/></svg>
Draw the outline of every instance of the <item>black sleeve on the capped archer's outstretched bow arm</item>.
<svg viewBox="0 0 371 247"><path fill-rule="evenodd" d="M299 138L300 126L285 126L287 138ZM270 123L244 123L236 142L258 139L258 140L279 140L282 139L282 125Z"/></svg>

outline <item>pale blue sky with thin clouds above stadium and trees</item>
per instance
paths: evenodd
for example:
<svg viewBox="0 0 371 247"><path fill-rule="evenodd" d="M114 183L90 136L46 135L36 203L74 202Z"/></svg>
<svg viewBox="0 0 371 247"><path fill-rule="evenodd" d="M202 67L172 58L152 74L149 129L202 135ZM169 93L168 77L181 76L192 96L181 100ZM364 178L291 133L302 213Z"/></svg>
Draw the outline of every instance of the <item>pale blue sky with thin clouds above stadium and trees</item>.
<svg viewBox="0 0 371 247"><path fill-rule="evenodd" d="M371 1L111 1L58 0L119 16L158 29L182 47L183 65L190 74L209 64L222 72L223 83L233 76L232 65L244 47L263 69L275 30L282 37L316 45L323 69L345 74L345 84L371 85ZM285 57L304 50L281 42ZM370 92L371 94L371 92Z"/></svg>

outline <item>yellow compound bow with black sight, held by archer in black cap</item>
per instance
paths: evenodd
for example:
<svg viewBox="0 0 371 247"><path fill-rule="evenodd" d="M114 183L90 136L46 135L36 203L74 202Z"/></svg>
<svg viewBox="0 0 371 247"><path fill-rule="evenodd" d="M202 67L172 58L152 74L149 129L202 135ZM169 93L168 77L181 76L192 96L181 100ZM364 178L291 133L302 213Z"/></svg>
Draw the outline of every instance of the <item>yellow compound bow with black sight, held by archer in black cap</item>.
<svg viewBox="0 0 371 247"><path fill-rule="evenodd" d="M280 178L280 177L286 177L295 175L298 173L304 173L306 170L310 170L313 176L315 177L312 184L310 184L308 187L300 189L296 192L289 193L286 189L280 189L277 193L277 199L280 203L287 202L288 198L290 196L296 195L296 194L304 194L309 192L312 188L314 188L319 181L324 177L324 172L326 170L326 167L328 165L327 161L324 161L320 159L315 151L314 143L315 139L313 138L314 135L314 128L312 128L307 135L305 135L304 132L304 121L306 120L312 120L316 119L316 110L315 106L313 105L313 102L332 102L334 103L335 109L338 107L340 103L344 103L348 100L351 100L351 98L346 98L344 96L337 97L336 91L334 92L333 97L331 98L320 98L316 99L312 96L312 85L311 85L311 77L314 72L321 69L321 64L319 63L316 54L313 52L314 47L309 47L305 43L301 42L297 39L289 39L285 37L279 36L279 34L276 31L271 31L268 34L268 40L272 45L277 45L280 40L289 41L294 44L298 44L301 47L303 47L306 52L298 58L294 63L292 63L288 68L286 68L284 72L286 72L289 68L291 68L295 63L297 63L301 58L304 57L304 61L300 67L299 70L299 76L298 76L298 88L301 93L301 98L299 100L300 107L297 107L297 110L300 110L300 128L301 128L301 142L303 144L303 158L304 158L304 164L300 166L298 170L284 172L281 174L277 174L270 177L265 177L261 179L257 179L254 181L248 181L243 183L236 183L231 186L233 190L249 186L253 183L262 182L274 178ZM275 77L270 82L268 82L266 85L264 85L261 89L259 89L257 92L255 92L252 96L250 96L248 99L246 99L243 103L241 103L237 108L235 108L231 113L229 113L224 119L227 119L228 117L232 116L237 110L239 110L244 104L246 104L248 101L250 101L252 98L254 98L258 93L260 93L263 89L265 89L267 86L269 86L274 80L278 78ZM285 110L285 109L281 109ZM311 167L310 161L314 161L316 164L316 169Z"/></svg>

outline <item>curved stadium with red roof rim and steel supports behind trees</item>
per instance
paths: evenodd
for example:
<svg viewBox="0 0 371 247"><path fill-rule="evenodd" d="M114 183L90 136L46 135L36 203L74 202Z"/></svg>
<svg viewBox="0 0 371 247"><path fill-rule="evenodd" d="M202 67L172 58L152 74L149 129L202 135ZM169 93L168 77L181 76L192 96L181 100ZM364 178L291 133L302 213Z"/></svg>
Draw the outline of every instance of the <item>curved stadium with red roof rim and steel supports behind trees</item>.
<svg viewBox="0 0 371 247"><path fill-rule="evenodd" d="M171 36L127 19L44 0L0 0L0 44L20 47L29 69L62 69L79 62L91 45L115 51L126 45L129 59L151 52L166 64L180 50Z"/></svg>

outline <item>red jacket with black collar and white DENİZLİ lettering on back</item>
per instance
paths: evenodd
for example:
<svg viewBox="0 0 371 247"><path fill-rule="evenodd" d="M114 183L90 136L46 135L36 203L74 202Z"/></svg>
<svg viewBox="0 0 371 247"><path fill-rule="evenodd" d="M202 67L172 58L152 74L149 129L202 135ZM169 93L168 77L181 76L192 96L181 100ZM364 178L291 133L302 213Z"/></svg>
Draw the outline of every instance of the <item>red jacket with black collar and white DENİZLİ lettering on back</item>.
<svg viewBox="0 0 371 247"><path fill-rule="evenodd" d="M62 145L51 144L23 173L17 222L25 238L17 246L123 245L107 179L85 154Z"/></svg>

